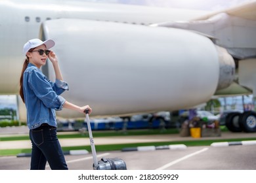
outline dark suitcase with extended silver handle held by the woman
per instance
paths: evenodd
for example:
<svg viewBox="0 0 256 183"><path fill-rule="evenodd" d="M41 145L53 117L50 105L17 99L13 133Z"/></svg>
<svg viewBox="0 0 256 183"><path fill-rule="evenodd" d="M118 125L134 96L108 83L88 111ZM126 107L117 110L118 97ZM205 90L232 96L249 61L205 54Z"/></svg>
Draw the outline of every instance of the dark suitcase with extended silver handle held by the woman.
<svg viewBox="0 0 256 183"><path fill-rule="evenodd" d="M91 131L91 124L89 120L89 110L85 110L86 122L89 132L91 151L93 154L93 169L95 170L127 170L126 163L120 158L101 158L97 160L95 143L93 141L93 133Z"/></svg>

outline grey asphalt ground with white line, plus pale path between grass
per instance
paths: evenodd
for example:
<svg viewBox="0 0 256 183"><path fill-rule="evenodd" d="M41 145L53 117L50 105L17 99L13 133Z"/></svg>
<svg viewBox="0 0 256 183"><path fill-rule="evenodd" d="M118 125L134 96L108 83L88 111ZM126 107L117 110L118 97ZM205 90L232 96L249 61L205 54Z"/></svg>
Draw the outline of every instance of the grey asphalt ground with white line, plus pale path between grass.
<svg viewBox="0 0 256 183"><path fill-rule="evenodd" d="M77 131L58 132L79 133ZM28 127L2 127L0 137L28 135ZM163 141L198 141L203 139L243 139L256 137L256 133L232 133L225 131L220 137L181 137L179 134L169 135L134 135L125 137L95 137L97 144L125 144L133 142L163 142ZM59 139L64 146L85 146L89 145L89 137L78 139ZM221 143L221 142L219 142ZM256 141L241 141L236 143L223 143L221 146L179 146L169 150L166 146L143 146L137 147L138 151L108 151L98 152L97 158L118 157L125 160L129 170L255 170L254 148ZM250 145L248 145L250 144ZM253 144L253 145L251 145ZM182 145L182 144L181 144ZM225 147L229 146L229 147ZM31 148L30 141L0 141L1 149ZM152 151L154 150L154 151ZM81 151L79 151L81 152ZM93 158L91 153L84 151L79 154L65 154L70 170L91 170ZM235 153L234 153L235 152ZM70 156L71 155L71 156ZM199 163L200 162L200 163ZM30 169L30 157L26 154L20 156L0 156L0 170L27 170ZM46 169L50 169L47 165Z"/></svg>

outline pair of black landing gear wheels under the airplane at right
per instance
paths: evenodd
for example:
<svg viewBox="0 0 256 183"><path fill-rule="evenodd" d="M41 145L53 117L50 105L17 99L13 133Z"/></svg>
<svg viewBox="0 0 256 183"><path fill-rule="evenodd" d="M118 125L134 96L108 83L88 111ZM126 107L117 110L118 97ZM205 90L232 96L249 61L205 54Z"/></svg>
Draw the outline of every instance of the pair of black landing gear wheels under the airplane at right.
<svg viewBox="0 0 256 183"><path fill-rule="evenodd" d="M256 132L256 112L232 112L226 116L226 127L232 132Z"/></svg>

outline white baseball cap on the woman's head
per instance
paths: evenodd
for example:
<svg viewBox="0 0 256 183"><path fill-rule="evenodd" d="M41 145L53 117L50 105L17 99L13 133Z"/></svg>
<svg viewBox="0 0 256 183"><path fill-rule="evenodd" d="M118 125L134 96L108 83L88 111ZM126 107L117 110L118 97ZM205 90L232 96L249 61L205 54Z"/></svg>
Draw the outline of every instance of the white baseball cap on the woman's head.
<svg viewBox="0 0 256 183"><path fill-rule="evenodd" d="M40 46L42 44L45 44L46 48L52 48L55 45L55 42L51 39L47 39L47 41L41 41L40 39L30 39L30 41L26 42L23 47L23 54L27 54L28 50L31 48L35 48L37 46Z"/></svg>

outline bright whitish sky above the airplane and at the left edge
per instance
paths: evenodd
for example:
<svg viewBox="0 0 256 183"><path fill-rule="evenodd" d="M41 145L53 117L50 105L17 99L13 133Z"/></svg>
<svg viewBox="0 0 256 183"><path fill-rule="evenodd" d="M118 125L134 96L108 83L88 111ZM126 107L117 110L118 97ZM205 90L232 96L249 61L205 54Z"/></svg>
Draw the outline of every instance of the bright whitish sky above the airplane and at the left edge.
<svg viewBox="0 0 256 183"><path fill-rule="evenodd" d="M95 3L121 3L165 8L188 8L195 10L222 10L255 0L85 0ZM15 95L0 95L1 108L16 108Z"/></svg>

